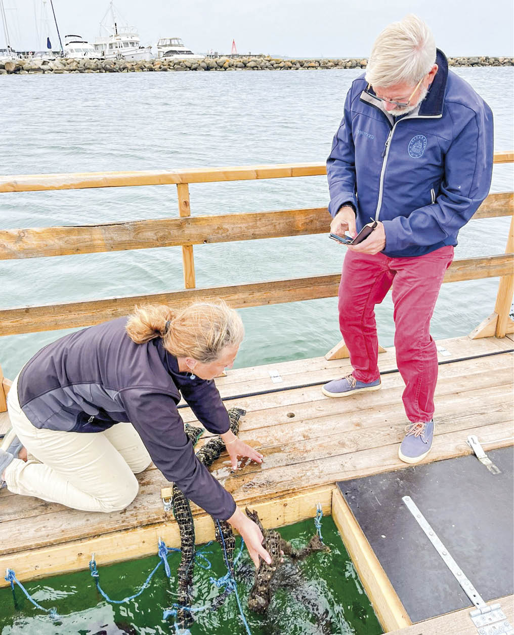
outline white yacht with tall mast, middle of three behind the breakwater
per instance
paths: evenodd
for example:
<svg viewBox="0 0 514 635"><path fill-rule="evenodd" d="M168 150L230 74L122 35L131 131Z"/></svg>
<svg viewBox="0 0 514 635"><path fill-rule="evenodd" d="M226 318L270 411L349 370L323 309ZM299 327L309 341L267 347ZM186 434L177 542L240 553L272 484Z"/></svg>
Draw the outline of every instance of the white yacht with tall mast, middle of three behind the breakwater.
<svg viewBox="0 0 514 635"><path fill-rule="evenodd" d="M106 22L110 14L110 24ZM117 14L119 16L119 13ZM109 59L151 60L152 47L141 46L138 33L128 24L121 25L112 2L100 23L102 35L95 39L96 55Z"/></svg>

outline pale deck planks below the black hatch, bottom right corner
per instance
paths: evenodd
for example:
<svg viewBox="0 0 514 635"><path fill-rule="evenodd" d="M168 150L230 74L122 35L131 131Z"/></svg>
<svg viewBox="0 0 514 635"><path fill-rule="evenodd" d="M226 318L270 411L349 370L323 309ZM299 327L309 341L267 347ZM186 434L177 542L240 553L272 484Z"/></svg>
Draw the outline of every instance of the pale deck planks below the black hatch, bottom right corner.
<svg viewBox="0 0 514 635"><path fill-rule="evenodd" d="M504 596L504 598L491 599L488 604L501 605L501 609L505 613L505 617L510 624L514 622L514 596ZM477 627L470 618L469 608L463 608L460 611L433 617L425 622L418 622L409 628L403 628L399 631L389 631L386 635L477 635Z"/></svg>

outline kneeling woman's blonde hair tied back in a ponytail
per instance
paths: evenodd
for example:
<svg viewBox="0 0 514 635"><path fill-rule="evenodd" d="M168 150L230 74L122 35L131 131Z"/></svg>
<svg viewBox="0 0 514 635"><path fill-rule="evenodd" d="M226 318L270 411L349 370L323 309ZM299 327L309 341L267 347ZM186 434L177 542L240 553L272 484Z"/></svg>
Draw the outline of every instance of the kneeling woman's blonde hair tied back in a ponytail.
<svg viewBox="0 0 514 635"><path fill-rule="evenodd" d="M136 307L126 331L136 344L162 337L166 351L209 363L226 346L239 345L244 327L239 314L223 302L195 302L176 311L166 305Z"/></svg>

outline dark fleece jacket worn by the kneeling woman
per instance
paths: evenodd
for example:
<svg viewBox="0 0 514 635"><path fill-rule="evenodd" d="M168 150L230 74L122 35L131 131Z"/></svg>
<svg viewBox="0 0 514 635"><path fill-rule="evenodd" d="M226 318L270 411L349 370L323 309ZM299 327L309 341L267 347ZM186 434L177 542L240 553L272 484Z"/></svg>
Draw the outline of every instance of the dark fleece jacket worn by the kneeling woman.
<svg viewBox="0 0 514 635"><path fill-rule="evenodd" d="M131 422L168 481L214 518L230 518L234 499L195 457L177 410L182 396L209 432L227 432L216 385L180 373L160 337L135 344L126 321L91 326L41 349L18 378L23 412L36 428L68 432Z"/></svg>

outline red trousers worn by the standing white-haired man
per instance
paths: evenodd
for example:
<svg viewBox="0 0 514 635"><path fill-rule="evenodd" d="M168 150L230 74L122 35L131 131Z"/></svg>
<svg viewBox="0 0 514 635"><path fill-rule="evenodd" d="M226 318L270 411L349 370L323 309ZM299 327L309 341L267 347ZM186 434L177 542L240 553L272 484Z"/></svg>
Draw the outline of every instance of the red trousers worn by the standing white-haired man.
<svg viewBox="0 0 514 635"><path fill-rule="evenodd" d="M339 328L350 351L353 377L379 377L374 306L393 288L395 349L405 382L402 396L409 421L430 421L437 382L437 347L430 319L453 247L424 256L389 258L348 250L339 285Z"/></svg>

